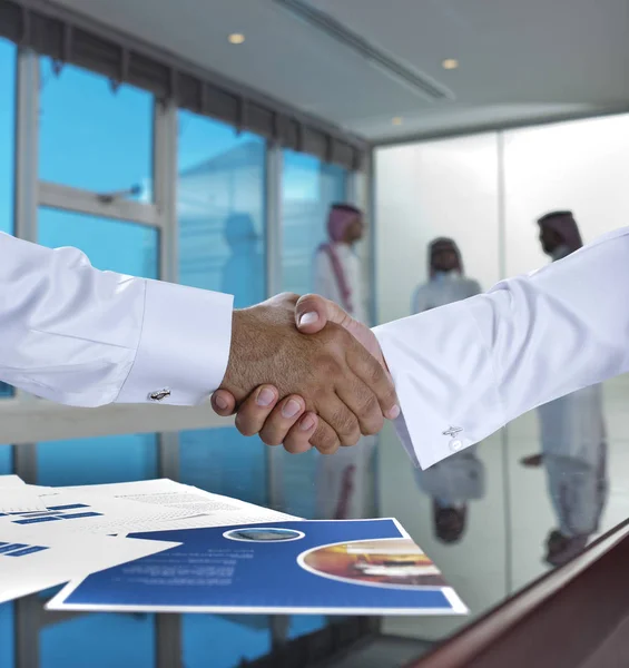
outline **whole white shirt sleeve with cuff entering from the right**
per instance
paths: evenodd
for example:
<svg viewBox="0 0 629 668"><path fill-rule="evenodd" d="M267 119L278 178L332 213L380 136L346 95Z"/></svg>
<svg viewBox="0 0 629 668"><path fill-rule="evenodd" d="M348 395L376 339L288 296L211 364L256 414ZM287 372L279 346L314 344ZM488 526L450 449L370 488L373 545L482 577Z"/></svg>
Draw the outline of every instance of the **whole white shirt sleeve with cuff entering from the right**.
<svg viewBox="0 0 629 668"><path fill-rule="evenodd" d="M629 371L629 228L489 293L374 330L425 469L519 415Z"/></svg>

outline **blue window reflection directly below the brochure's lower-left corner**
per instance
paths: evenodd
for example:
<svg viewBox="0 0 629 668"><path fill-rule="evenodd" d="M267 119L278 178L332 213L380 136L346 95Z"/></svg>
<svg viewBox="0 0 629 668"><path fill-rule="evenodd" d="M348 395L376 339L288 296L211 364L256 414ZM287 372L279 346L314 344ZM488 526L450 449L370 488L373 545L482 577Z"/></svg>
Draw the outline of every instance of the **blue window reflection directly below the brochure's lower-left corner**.
<svg viewBox="0 0 629 668"><path fill-rule="evenodd" d="M39 666L154 668L154 622L151 615L87 615L48 626L39 633Z"/></svg>

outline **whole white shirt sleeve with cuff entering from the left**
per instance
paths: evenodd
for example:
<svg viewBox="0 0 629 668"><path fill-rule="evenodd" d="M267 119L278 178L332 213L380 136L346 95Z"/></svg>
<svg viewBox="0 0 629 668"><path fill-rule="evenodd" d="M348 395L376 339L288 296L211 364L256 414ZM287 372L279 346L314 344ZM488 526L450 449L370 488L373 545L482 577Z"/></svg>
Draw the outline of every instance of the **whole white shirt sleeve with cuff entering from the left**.
<svg viewBox="0 0 629 668"><path fill-rule="evenodd" d="M76 248L7 234L0 257L6 383L77 406L191 405L220 385L229 295L100 272Z"/></svg>

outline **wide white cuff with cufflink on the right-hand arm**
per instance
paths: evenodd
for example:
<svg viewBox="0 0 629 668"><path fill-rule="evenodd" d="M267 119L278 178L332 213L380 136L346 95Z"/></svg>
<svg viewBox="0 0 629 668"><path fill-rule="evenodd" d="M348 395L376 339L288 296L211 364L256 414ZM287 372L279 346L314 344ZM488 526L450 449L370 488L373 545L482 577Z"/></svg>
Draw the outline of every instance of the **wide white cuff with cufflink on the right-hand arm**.
<svg viewBox="0 0 629 668"><path fill-rule="evenodd" d="M475 298L374 330L402 407L397 434L422 469L504 424L492 360L469 307Z"/></svg>

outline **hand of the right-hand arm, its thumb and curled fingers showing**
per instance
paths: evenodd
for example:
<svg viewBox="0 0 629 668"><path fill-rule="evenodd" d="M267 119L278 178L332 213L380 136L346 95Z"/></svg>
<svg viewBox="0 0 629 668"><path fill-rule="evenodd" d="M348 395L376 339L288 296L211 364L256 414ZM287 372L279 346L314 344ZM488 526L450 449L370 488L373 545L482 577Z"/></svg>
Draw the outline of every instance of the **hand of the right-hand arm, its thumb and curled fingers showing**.
<svg viewBox="0 0 629 668"><path fill-rule="evenodd" d="M282 296L286 299L285 296ZM328 327L343 327L377 361L385 377L391 382L380 344L373 332L348 316L340 306L318 295L307 295L298 299L291 316L304 334L316 335ZM330 323L330 324L328 324ZM240 404L236 415L236 426L240 433L253 435L259 433L263 442L269 445L284 443L288 452L304 452L315 445L322 452L330 452L322 443L322 433L327 432L327 424L322 429L325 416L306 410L306 402L299 394L284 396L282 389L273 385L261 385ZM235 397L225 390L213 395L213 406L219 415L229 415L236 407ZM395 404L391 410L383 410L389 419L395 419L400 409ZM381 422L382 424L382 422ZM377 430L380 431L380 430ZM374 433L374 432L363 432Z"/></svg>

